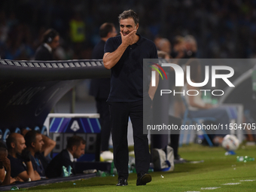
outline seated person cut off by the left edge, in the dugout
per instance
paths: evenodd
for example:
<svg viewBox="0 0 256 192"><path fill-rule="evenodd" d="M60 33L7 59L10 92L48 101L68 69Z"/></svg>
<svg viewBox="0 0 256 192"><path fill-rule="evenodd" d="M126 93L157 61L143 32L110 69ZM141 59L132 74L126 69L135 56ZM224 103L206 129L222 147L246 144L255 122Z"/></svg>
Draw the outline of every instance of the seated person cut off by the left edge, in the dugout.
<svg viewBox="0 0 256 192"><path fill-rule="evenodd" d="M11 183L11 163L7 156L6 146L0 142L0 185Z"/></svg>

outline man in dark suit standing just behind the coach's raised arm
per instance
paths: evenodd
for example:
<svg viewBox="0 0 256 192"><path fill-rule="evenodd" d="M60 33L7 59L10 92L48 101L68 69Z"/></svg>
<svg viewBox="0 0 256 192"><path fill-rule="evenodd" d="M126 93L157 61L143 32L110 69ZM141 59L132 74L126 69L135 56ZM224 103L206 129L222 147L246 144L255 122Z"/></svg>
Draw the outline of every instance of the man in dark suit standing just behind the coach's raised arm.
<svg viewBox="0 0 256 192"><path fill-rule="evenodd" d="M99 28L101 41L93 48L92 59L102 59L104 55L105 41L117 35L113 23L103 23ZM90 95L96 99L97 113L100 115L101 130L101 157L104 160L113 160L113 154L108 150L108 142L111 133L108 99L110 91L110 78L95 78L90 84Z"/></svg>

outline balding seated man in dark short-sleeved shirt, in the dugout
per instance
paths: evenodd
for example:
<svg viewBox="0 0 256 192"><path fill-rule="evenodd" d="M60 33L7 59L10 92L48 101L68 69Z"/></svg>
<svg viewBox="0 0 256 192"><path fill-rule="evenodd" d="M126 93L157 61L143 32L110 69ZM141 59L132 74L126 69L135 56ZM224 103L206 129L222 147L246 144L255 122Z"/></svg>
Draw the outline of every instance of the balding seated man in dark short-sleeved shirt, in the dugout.
<svg viewBox="0 0 256 192"><path fill-rule="evenodd" d="M19 133L11 133L6 140L8 159L11 162L11 177L19 176L23 181L39 180L40 175L33 169L29 151L25 151L25 139Z"/></svg>

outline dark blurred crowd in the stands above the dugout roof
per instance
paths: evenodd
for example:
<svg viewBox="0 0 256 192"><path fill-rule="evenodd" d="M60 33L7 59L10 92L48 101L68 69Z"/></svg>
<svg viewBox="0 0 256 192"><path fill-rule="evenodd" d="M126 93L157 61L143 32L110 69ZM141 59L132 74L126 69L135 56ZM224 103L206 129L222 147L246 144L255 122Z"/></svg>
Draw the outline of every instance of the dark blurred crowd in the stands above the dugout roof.
<svg viewBox="0 0 256 192"><path fill-rule="evenodd" d="M33 59L41 35L53 28L61 37L57 59L90 59L99 26L118 26L117 15L132 8L139 33L151 39L194 35L199 58L251 58L255 55L254 0L3 0L0 6L0 56ZM118 28L117 28L118 29Z"/></svg>

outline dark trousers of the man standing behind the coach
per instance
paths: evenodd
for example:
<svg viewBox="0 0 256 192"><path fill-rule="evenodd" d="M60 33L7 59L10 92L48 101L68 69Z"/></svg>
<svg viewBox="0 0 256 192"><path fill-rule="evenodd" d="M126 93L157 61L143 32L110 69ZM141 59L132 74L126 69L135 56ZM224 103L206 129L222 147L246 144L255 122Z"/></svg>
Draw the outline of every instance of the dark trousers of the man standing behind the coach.
<svg viewBox="0 0 256 192"><path fill-rule="evenodd" d="M107 99L96 99L97 113L99 113L99 122L101 130L101 151L108 151L109 137L111 133L110 114Z"/></svg>

